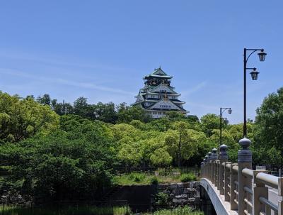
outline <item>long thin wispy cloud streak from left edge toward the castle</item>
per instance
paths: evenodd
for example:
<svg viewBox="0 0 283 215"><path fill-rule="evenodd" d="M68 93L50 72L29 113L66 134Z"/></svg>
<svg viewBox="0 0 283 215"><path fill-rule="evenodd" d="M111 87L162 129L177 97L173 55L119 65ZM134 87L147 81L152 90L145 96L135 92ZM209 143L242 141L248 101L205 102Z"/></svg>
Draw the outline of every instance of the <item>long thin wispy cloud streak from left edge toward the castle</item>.
<svg viewBox="0 0 283 215"><path fill-rule="evenodd" d="M11 69L7 69L7 68L0 68L0 73L6 74L6 75L13 75L13 76L17 76L17 77L28 78L28 79L36 79L36 80L41 81L41 82L63 84L63 85L68 85L68 86L72 86L72 87L81 87L81 88L86 88L86 89L97 89L97 90L104 91L104 92L112 92L114 94L127 94L127 95L134 96L134 93L125 91L123 89L117 89L117 88L112 88L112 87L103 87L103 86L96 85L96 84L93 84L93 83L71 81L69 79L34 76L34 75L30 75L28 72L23 72L23 71L20 71L20 70L11 70Z"/></svg>

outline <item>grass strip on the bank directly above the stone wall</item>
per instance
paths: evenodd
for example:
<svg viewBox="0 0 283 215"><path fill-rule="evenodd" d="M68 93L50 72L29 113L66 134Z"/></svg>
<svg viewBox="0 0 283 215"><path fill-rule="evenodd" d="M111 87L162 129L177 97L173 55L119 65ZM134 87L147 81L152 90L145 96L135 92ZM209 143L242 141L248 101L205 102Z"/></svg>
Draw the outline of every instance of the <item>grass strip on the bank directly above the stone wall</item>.
<svg viewBox="0 0 283 215"><path fill-rule="evenodd" d="M164 177L163 175L146 175L145 173L132 172L125 175L117 175L114 177L115 184L119 185L141 185L141 184L170 184L178 182L191 182L197 178L193 173L185 173L182 175L175 175Z"/></svg>

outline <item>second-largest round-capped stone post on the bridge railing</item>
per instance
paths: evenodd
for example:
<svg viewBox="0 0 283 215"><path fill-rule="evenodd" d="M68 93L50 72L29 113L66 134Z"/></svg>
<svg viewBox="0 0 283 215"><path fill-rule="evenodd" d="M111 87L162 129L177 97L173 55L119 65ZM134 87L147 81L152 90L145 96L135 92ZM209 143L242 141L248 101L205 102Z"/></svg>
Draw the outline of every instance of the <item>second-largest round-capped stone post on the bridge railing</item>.
<svg viewBox="0 0 283 215"><path fill-rule="evenodd" d="M228 154L227 154L228 146L223 144L220 145L219 148L219 176L218 176L218 188L221 195L224 194L224 169L225 167L222 163L228 161Z"/></svg>

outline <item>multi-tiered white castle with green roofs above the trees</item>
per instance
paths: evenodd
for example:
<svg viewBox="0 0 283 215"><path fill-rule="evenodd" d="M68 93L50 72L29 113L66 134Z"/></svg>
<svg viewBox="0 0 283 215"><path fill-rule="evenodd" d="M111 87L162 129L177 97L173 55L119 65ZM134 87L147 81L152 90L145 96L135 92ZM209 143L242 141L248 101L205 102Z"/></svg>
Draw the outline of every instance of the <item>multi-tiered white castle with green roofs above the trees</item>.
<svg viewBox="0 0 283 215"><path fill-rule="evenodd" d="M167 111L179 111L186 114L183 109L185 101L180 101L180 94L171 86L172 76L167 75L161 67L144 77L144 87L139 89L139 94L134 105L141 106L153 118L165 116Z"/></svg>

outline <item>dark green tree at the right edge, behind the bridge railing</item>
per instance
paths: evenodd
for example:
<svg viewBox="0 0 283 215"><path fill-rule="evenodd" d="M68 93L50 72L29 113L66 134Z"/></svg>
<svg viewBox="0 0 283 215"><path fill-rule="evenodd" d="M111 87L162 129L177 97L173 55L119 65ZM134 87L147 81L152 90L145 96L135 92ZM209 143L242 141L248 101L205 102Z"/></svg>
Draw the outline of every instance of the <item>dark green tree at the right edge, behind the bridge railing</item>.
<svg viewBox="0 0 283 215"><path fill-rule="evenodd" d="M254 138L258 162L282 167L283 88L265 97L257 109Z"/></svg>

